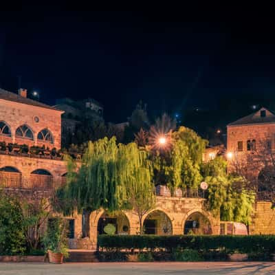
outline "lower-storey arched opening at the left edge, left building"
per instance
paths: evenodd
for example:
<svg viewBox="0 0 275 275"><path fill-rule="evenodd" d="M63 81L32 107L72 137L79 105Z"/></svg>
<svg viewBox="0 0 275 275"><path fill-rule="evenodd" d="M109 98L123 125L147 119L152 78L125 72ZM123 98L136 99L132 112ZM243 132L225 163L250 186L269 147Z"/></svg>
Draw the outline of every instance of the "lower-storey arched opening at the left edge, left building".
<svg viewBox="0 0 275 275"><path fill-rule="evenodd" d="M0 168L0 188L22 188L21 172L13 166Z"/></svg>

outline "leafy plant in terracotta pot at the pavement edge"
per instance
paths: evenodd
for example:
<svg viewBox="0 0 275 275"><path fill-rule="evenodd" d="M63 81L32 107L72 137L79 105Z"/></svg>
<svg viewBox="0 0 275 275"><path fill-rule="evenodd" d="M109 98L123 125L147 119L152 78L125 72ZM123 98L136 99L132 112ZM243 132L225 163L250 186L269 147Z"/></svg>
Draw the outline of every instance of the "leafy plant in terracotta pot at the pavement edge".
<svg viewBox="0 0 275 275"><path fill-rule="evenodd" d="M61 217L49 219L43 243L50 263L63 263L63 258L69 256L64 219L61 219Z"/></svg>

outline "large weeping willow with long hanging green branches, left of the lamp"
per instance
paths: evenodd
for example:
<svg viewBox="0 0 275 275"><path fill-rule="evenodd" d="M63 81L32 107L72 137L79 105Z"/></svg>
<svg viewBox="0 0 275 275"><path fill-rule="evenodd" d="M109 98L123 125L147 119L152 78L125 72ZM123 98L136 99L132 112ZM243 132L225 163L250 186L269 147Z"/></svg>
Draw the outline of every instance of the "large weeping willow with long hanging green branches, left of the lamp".
<svg viewBox="0 0 275 275"><path fill-rule="evenodd" d="M135 143L116 144L115 137L105 137L88 143L78 172L72 159L67 163L67 184L57 190L64 214L133 208L140 217L153 207L151 162Z"/></svg>

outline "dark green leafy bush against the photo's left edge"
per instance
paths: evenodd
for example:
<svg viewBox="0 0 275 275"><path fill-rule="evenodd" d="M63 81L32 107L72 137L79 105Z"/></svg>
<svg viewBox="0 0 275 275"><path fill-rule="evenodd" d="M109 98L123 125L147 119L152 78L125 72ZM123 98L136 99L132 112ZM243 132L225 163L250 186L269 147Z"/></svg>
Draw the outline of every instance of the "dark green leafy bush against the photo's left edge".
<svg viewBox="0 0 275 275"><path fill-rule="evenodd" d="M0 255L25 252L23 212L19 201L0 192Z"/></svg>

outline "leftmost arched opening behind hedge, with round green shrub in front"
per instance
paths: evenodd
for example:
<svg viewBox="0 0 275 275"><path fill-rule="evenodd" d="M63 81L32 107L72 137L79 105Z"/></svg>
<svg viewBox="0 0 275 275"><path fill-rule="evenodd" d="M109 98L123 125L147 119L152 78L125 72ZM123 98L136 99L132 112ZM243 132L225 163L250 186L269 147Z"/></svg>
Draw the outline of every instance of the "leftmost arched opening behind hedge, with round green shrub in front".
<svg viewBox="0 0 275 275"><path fill-rule="evenodd" d="M123 212L104 212L98 220L98 234L129 234L130 223Z"/></svg>

